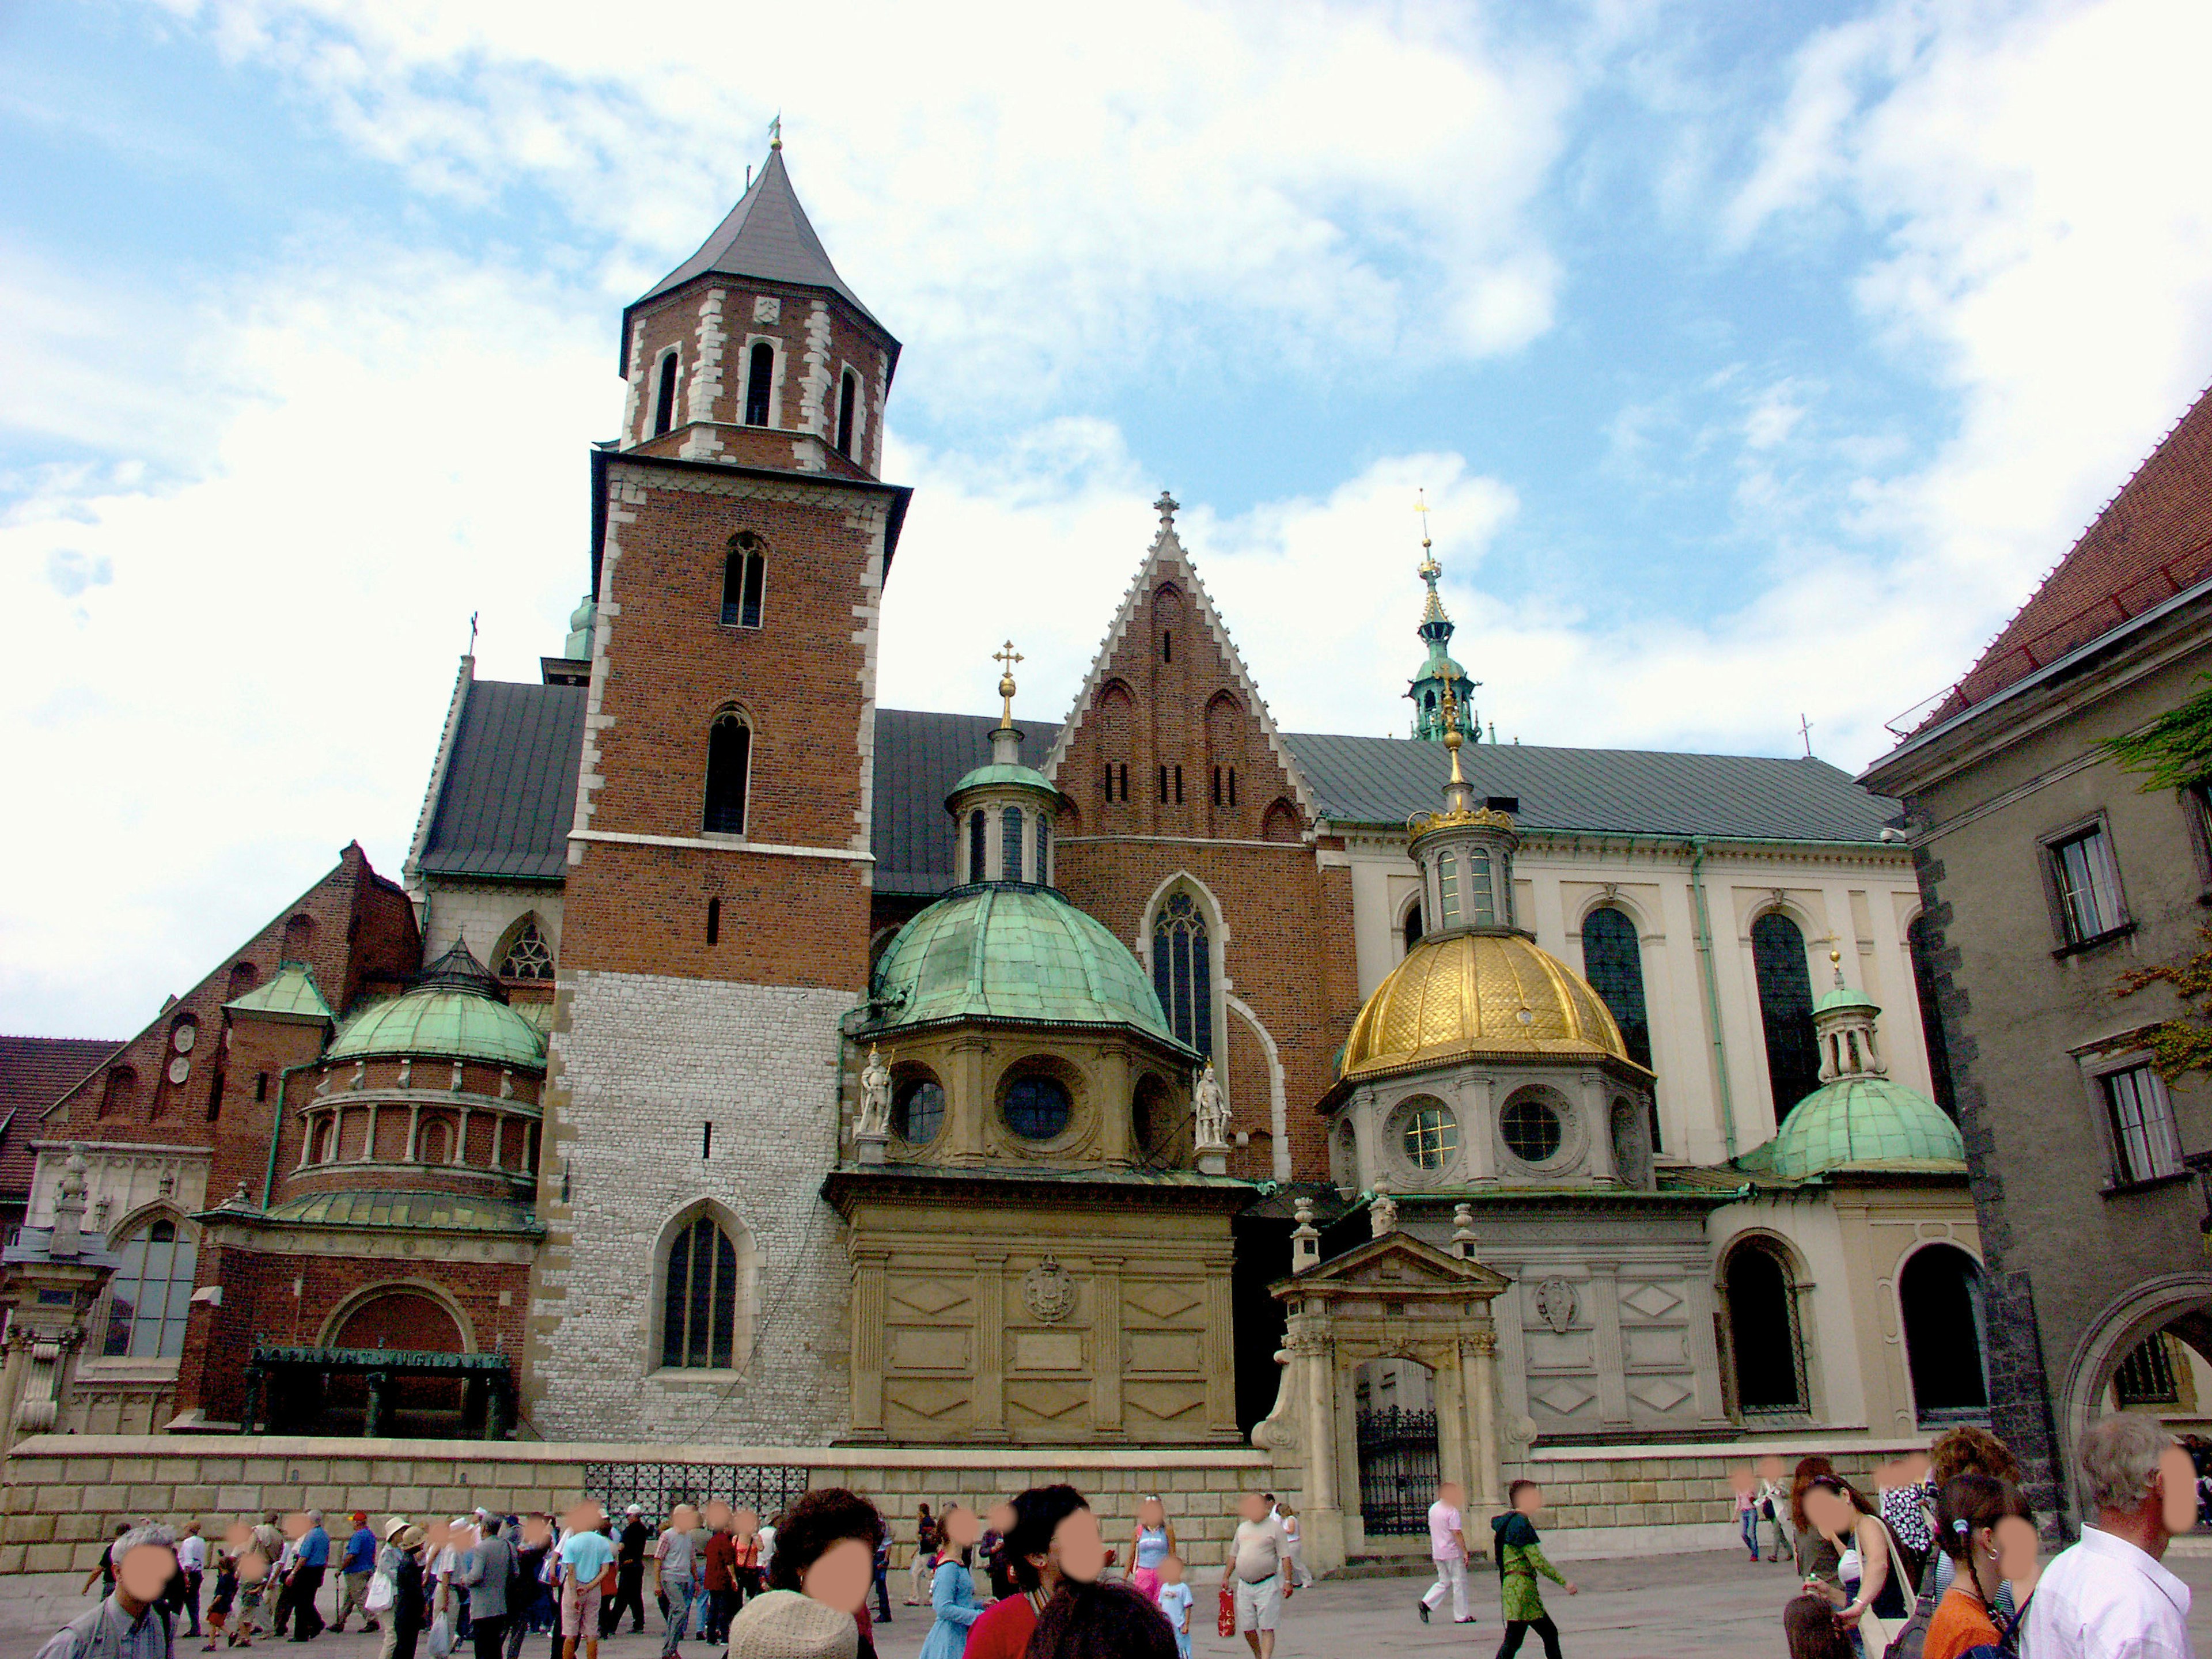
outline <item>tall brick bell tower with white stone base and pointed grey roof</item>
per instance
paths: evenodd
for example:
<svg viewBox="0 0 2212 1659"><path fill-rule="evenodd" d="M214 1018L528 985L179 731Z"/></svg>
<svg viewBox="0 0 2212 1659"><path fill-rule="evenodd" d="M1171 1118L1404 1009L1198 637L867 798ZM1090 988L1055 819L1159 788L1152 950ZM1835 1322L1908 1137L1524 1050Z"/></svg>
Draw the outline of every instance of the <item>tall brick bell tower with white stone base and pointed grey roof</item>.
<svg viewBox="0 0 2212 1659"><path fill-rule="evenodd" d="M898 341L781 139L622 319L546 1077L524 1413L551 1438L845 1429L821 1203L867 989L876 628L909 491Z"/></svg>

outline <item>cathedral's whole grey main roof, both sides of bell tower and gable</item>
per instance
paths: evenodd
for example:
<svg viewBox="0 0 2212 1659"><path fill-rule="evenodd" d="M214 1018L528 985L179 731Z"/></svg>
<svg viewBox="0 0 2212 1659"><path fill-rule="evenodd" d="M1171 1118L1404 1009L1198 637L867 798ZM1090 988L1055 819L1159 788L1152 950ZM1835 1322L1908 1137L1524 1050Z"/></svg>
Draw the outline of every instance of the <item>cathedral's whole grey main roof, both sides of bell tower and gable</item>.
<svg viewBox="0 0 2212 1659"><path fill-rule="evenodd" d="M584 745L582 686L469 686L438 814L422 849L429 876L560 880L575 821ZM953 880L945 796L991 759L993 714L876 710L876 891L936 896ZM1405 823L1442 805L1438 743L1285 732L1325 818ZM1029 728L1037 759L1051 730ZM1520 799L1524 830L1717 841L1880 841L1898 805L1827 761L1765 754L1663 754L1469 743L1478 794Z"/></svg>

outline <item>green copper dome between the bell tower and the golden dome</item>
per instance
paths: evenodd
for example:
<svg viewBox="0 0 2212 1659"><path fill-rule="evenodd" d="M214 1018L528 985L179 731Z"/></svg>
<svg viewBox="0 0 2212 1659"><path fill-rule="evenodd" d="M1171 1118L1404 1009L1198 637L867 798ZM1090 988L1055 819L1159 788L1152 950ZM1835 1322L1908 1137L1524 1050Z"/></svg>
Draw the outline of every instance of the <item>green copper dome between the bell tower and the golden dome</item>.
<svg viewBox="0 0 2212 1659"><path fill-rule="evenodd" d="M1128 947L1048 887L940 898L898 929L876 964L872 1000L885 1031L1015 1020L1128 1026L1175 1042Z"/></svg>

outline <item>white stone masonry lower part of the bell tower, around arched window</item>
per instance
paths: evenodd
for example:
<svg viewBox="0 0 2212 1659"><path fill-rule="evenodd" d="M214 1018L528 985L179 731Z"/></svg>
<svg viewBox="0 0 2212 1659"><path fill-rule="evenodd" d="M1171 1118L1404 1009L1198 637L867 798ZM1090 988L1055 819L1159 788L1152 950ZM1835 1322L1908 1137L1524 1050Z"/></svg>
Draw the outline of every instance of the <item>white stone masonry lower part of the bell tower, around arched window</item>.
<svg viewBox="0 0 2212 1659"><path fill-rule="evenodd" d="M564 973L524 1398L538 1433L823 1444L845 1431L849 1272L818 1192L852 1004L852 991ZM741 1254L750 1243L739 1371L659 1367L661 1256L701 1206Z"/></svg>

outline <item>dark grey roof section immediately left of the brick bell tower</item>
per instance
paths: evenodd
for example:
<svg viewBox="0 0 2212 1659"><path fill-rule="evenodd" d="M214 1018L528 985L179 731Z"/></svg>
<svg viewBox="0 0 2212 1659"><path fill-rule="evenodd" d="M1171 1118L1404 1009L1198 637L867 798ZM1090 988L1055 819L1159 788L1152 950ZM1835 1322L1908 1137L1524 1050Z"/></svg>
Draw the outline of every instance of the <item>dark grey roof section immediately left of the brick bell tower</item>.
<svg viewBox="0 0 2212 1659"><path fill-rule="evenodd" d="M469 684L422 843L425 876L562 878L588 695L584 686Z"/></svg>

